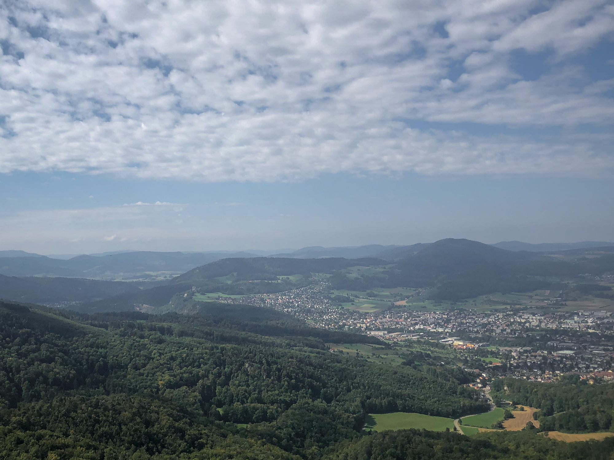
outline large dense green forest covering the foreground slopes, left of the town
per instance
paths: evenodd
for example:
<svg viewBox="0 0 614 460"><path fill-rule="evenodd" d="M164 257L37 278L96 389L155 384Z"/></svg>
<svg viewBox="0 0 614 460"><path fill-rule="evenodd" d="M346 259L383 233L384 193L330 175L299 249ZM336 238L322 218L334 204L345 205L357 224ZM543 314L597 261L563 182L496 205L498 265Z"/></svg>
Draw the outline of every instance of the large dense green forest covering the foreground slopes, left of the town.
<svg viewBox="0 0 614 460"><path fill-rule="evenodd" d="M488 406L459 369L371 364L323 340L353 334L237 316L0 302L0 458L605 460L614 448L531 430L365 432L368 413L456 418Z"/></svg>

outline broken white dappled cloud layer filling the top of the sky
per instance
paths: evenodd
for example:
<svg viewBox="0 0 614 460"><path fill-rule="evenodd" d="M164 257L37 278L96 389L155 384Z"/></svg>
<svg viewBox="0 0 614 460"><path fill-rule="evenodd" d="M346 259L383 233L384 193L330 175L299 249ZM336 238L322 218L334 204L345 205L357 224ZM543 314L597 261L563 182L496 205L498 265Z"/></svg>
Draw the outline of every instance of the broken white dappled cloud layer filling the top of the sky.
<svg viewBox="0 0 614 460"><path fill-rule="evenodd" d="M7 2L0 172L610 176L613 30L601 0Z"/></svg>

